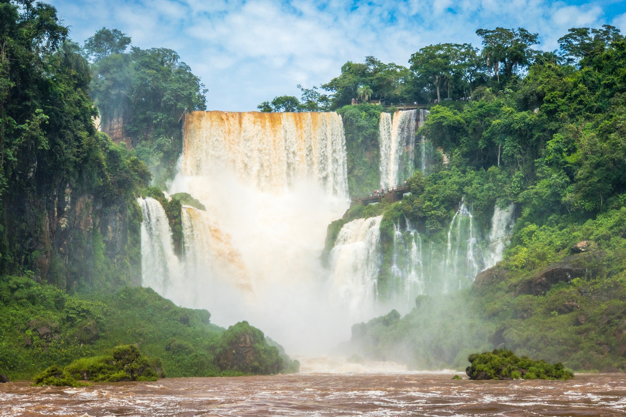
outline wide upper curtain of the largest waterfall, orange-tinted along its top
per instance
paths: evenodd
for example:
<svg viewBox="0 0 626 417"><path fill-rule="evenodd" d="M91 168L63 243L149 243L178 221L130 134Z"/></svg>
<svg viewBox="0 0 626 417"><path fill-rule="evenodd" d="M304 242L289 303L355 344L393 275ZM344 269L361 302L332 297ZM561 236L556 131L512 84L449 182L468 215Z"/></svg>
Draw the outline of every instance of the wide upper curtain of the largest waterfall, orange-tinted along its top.
<svg viewBox="0 0 626 417"><path fill-rule="evenodd" d="M347 196L346 138L339 114L195 111L185 116L182 172L230 169L262 191L304 178Z"/></svg>

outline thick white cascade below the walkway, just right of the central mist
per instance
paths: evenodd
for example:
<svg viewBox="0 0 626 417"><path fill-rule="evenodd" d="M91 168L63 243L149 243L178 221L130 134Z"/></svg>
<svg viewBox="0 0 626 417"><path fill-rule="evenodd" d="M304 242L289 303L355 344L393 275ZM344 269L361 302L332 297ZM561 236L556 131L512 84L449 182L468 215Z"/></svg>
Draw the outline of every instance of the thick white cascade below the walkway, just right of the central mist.
<svg viewBox="0 0 626 417"><path fill-rule="evenodd" d="M352 311L373 306L380 268L382 216L344 224L331 251L334 286Z"/></svg>

